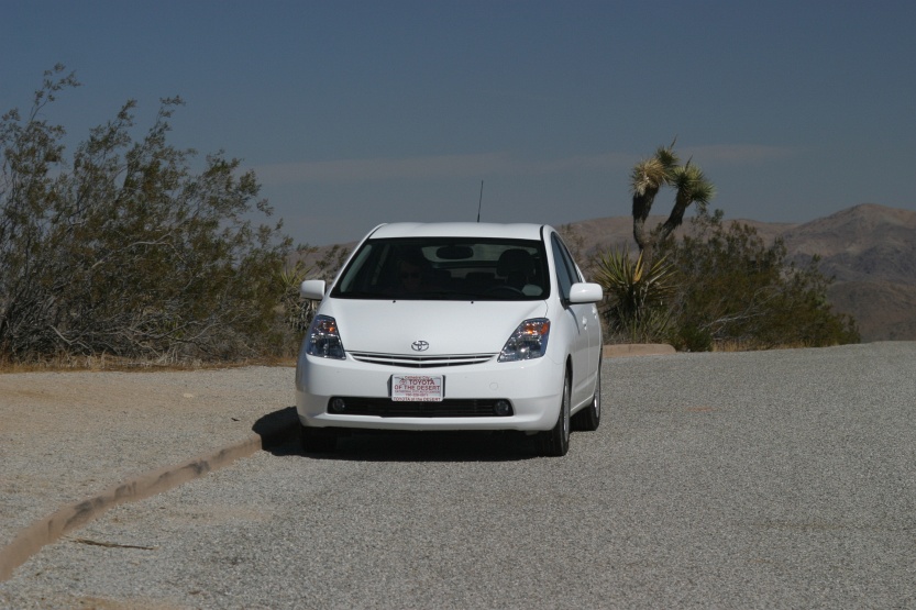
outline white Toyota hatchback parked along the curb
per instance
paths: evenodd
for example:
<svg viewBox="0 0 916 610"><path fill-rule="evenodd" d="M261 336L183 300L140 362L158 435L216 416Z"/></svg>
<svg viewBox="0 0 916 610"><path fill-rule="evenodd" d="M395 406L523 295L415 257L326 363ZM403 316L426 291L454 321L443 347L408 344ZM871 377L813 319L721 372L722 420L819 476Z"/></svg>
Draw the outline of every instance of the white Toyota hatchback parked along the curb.
<svg viewBox="0 0 916 610"><path fill-rule="evenodd" d="M320 300L296 367L306 452L372 430L515 430L562 456L602 418L602 288L540 224L373 229Z"/></svg>

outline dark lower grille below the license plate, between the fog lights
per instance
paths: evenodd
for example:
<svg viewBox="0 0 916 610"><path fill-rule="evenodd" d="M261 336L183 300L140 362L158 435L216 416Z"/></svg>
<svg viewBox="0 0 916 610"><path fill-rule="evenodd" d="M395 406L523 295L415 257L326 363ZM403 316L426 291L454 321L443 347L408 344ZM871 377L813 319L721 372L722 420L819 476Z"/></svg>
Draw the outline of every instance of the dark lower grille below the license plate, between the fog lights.
<svg viewBox="0 0 916 610"><path fill-rule="evenodd" d="M344 408L342 411L331 410L329 413L335 415L376 415L379 418L508 418L512 415L512 409L505 415L497 415L495 411L496 399L463 399L446 398L441 402L395 402L388 398L342 398Z"/></svg>

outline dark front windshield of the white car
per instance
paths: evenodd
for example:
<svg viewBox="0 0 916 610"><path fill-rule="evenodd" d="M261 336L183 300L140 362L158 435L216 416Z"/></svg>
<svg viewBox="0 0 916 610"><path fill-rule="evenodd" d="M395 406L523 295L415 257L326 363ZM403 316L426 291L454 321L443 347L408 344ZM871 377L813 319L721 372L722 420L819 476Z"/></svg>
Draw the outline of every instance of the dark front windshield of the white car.
<svg viewBox="0 0 916 610"><path fill-rule="evenodd" d="M346 266L331 297L343 299L545 299L543 243L475 237L369 240Z"/></svg>

